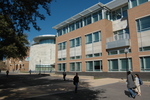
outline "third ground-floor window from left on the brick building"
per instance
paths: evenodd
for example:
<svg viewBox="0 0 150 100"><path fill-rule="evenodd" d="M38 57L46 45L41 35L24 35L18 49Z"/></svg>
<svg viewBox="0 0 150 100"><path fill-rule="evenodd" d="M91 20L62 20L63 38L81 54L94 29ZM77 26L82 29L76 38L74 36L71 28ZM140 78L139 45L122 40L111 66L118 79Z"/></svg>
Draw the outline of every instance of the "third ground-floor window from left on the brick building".
<svg viewBox="0 0 150 100"><path fill-rule="evenodd" d="M86 71L102 71L102 61L87 61L86 62Z"/></svg>

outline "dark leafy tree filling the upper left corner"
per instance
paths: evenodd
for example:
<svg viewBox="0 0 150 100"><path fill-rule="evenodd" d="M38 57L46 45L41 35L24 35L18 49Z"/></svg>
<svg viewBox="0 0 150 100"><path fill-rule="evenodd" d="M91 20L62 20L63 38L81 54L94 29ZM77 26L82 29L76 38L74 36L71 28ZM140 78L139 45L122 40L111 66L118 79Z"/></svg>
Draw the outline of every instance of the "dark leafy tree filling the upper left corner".
<svg viewBox="0 0 150 100"><path fill-rule="evenodd" d="M36 20L45 16L38 10L43 8L50 15L49 4L52 0L1 0L0 1L0 59L23 58L27 52L27 36L30 25L41 30Z"/></svg>

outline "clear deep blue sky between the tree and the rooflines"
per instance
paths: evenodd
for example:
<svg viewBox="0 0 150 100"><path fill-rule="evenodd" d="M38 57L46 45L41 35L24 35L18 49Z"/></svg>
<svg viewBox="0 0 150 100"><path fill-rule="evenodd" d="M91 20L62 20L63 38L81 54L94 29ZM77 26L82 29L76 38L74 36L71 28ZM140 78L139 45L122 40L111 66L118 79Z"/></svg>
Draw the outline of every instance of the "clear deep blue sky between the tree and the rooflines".
<svg viewBox="0 0 150 100"><path fill-rule="evenodd" d="M44 14L45 20L37 20L41 30L37 31L31 27L30 31L25 31L28 35L28 40L33 43L33 38L39 35L56 35L55 25L67 20L68 18L82 12L83 10L101 2L106 4L112 0L53 0L50 4L51 15L47 15L44 9L39 9L40 13Z"/></svg>

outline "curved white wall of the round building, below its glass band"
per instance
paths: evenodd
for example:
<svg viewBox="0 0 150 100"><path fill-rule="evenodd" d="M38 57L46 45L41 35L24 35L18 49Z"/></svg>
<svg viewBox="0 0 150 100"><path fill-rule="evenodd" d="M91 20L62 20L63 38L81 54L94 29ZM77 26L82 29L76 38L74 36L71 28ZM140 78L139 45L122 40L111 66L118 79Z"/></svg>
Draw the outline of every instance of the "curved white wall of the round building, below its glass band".
<svg viewBox="0 0 150 100"><path fill-rule="evenodd" d="M55 63L55 44L38 44L30 47L29 69L35 70L37 64Z"/></svg>

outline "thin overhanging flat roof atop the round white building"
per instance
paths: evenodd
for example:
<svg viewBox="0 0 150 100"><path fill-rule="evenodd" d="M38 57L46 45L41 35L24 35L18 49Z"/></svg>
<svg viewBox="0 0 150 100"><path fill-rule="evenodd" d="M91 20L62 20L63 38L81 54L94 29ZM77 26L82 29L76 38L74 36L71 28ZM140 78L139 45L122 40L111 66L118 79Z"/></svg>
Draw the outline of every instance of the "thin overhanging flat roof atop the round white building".
<svg viewBox="0 0 150 100"><path fill-rule="evenodd" d="M34 42L39 43L40 40L44 40L44 39L55 39L56 35L39 35L33 38Z"/></svg>

